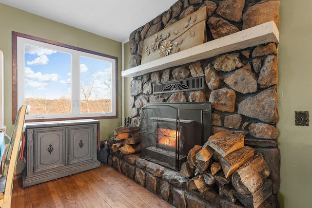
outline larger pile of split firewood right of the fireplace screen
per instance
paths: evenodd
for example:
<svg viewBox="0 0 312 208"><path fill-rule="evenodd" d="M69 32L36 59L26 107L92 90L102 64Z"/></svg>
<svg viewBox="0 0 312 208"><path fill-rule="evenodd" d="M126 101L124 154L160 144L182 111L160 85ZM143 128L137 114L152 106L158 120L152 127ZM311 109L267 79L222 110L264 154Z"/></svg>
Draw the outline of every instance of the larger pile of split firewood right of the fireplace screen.
<svg viewBox="0 0 312 208"><path fill-rule="evenodd" d="M203 146L189 151L181 166L182 177L192 178L191 189L204 192L216 186L230 202L237 199L246 207L257 208L272 195L270 168L261 153L244 146L244 135L219 132Z"/></svg>

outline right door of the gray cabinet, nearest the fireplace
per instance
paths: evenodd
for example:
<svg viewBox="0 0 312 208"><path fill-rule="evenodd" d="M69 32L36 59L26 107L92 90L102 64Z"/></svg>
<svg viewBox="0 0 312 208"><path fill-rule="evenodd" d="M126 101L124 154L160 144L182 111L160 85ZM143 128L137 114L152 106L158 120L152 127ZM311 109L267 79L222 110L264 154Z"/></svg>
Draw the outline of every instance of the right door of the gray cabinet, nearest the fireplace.
<svg viewBox="0 0 312 208"><path fill-rule="evenodd" d="M93 125L69 128L69 164L93 159Z"/></svg>

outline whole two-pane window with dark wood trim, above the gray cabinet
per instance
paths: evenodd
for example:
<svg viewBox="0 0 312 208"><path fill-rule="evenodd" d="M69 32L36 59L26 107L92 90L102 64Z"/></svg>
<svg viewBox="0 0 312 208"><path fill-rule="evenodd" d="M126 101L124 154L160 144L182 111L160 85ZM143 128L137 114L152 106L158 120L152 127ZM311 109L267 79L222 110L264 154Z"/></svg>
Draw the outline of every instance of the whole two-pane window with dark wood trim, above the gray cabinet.
<svg viewBox="0 0 312 208"><path fill-rule="evenodd" d="M118 115L117 57L12 32L12 66L13 122Z"/></svg>

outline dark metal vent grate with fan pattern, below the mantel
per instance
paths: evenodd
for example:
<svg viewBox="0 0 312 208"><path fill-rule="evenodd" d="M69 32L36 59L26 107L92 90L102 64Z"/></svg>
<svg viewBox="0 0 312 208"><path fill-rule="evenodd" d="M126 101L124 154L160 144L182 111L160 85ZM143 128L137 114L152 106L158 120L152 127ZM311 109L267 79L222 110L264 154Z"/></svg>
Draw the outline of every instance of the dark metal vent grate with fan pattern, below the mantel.
<svg viewBox="0 0 312 208"><path fill-rule="evenodd" d="M157 83L153 85L153 93L172 93L190 90L204 89L204 77L191 77L169 82Z"/></svg>

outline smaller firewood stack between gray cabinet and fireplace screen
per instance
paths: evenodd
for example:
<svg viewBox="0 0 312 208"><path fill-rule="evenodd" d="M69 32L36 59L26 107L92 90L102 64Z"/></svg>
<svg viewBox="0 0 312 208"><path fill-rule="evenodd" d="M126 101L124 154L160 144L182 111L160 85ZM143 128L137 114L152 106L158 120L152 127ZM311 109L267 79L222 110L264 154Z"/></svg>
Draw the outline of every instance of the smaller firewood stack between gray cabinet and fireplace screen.
<svg viewBox="0 0 312 208"><path fill-rule="evenodd" d="M113 137L105 141L105 148L113 152L120 151L123 154L133 154L141 149L140 127L117 127Z"/></svg>

